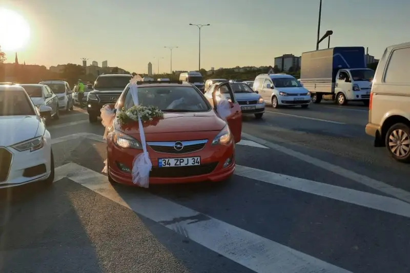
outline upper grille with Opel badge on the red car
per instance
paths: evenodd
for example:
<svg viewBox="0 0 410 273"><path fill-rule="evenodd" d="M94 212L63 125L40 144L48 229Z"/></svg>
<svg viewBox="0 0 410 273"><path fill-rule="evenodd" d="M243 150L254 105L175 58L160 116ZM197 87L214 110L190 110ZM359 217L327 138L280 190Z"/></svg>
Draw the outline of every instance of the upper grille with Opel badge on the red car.
<svg viewBox="0 0 410 273"><path fill-rule="evenodd" d="M166 141L147 142L147 144L157 153L165 154L188 154L201 150L208 140L187 140L187 141ZM175 149L175 144L182 144L182 149Z"/></svg>

